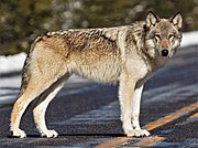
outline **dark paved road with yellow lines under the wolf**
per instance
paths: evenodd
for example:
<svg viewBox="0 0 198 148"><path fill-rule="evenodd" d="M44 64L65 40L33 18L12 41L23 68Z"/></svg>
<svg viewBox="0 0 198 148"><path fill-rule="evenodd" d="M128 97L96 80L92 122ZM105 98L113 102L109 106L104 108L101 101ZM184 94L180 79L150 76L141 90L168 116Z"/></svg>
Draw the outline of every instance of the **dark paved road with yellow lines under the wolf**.
<svg viewBox="0 0 198 148"><path fill-rule="evenodd" d="M19 83L19 76L9 80ZM6 77L1 78L1 82L6 81ZM15 86L0 85L0 89L8 92L1 95L16 95L18 83ZM59 134L51 139L40 137L31 106L21 123L28 138L11 138L11 107L1 107L0 147L198 147L198 46L182 49L147 82L142 99L141 125L150 129L152 136L124 137L117 91L117 86L72 80L47 109L47 125Z"/></svg>

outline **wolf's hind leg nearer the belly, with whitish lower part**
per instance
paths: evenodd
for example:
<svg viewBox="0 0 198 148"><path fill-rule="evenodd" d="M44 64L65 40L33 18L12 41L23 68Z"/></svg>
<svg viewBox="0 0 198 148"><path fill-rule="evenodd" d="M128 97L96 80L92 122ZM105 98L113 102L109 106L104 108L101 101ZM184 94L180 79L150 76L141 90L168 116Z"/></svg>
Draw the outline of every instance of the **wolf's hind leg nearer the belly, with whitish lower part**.
<svg viewBox="0 0 198 148"><path fill-rule="evenodd" d="M55 130L48 130L45 124L45 112L47 109L48 104L58 93L58 91L64 86L64 82L68 78L69 75L63 76L56 83L54 83L48 89L46 89L38 102L35 104L33 109L34 121L36 124L37 129L40 130L42 137L57 137L58 134Z"/></svg>

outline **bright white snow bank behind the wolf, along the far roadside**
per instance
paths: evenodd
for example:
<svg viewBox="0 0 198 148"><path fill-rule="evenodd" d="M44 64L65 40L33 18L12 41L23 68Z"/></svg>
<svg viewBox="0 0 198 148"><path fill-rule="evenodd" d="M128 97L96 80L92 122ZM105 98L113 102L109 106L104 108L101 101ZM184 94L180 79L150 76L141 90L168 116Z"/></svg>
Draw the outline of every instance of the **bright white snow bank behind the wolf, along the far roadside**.
<svg viewBox="0 0 198 148"><path fill-rule="evenodd" d="M184 33L182 47L195 44L198 45L198 31ZM13 56L0 56L0 74L21 71L25 57L25 53Z"/></svg>

